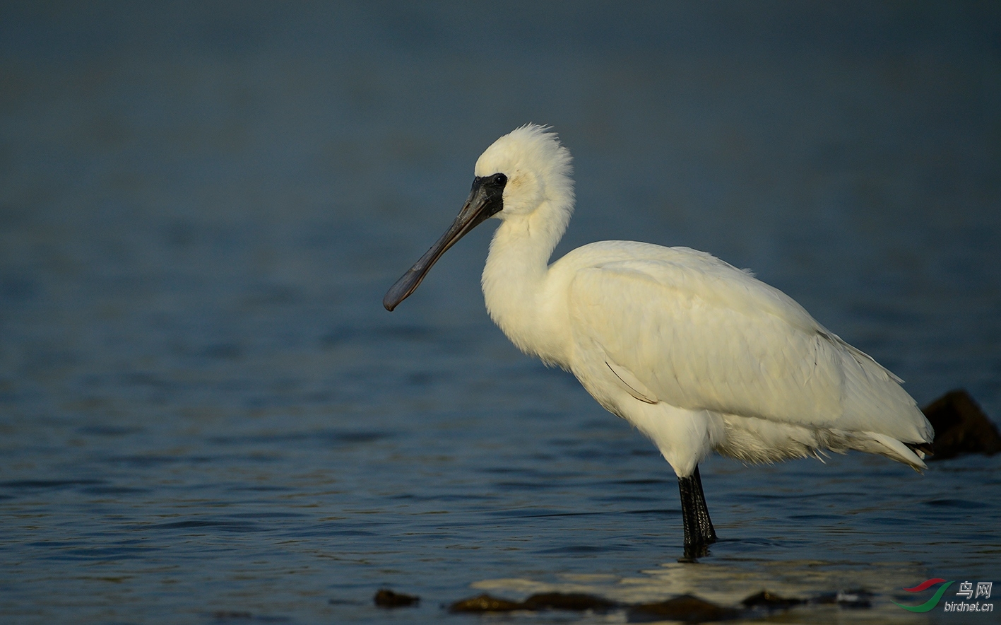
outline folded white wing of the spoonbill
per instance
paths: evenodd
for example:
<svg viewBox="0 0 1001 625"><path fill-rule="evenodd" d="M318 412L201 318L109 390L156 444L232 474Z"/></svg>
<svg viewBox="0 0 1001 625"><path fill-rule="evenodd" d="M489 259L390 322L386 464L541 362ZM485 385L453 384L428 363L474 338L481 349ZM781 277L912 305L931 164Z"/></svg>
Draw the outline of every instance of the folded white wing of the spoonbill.
<svg viewBox="0 0 1001 625"><path fill-rule="evenodd" d="M578 268L570 286L578 345L599 346L634 397L927 439L899 379L791 297L710 254L658 250Z"/></svg>

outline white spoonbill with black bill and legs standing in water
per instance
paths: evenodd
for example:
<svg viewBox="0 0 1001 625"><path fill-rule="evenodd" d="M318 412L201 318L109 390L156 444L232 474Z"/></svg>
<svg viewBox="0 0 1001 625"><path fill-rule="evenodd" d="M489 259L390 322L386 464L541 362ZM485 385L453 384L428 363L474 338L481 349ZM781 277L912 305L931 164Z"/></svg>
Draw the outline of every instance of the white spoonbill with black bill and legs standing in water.
<svg viewBox="0 0 1001 625"><path fill-rule="evenodd" d="M678 475L689 560L716 540L699 477L713 450L746 463L858 450L926 468L934 433L902 381L751 273L634 241L549 264L574 210L571 172L547 127L497 139L454 222L382 304L392 310L462 235L500 219L482 274L490 318L657 445Z"/></svg>

